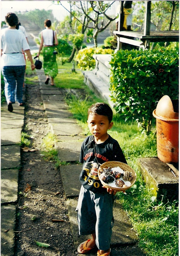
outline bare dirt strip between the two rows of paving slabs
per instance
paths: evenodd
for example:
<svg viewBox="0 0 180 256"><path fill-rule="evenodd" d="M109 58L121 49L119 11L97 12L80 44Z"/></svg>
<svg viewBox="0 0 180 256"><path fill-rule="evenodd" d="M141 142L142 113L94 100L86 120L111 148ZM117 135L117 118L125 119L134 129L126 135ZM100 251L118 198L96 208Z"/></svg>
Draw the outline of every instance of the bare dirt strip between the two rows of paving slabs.
<svg viewBox="0 0 180 256"><path fill-rule="evenodd" d="M24 132L31 137L30 148L37 150L21 150L15 256L77 255L59 170L43 160L41 152L42 139L50 130L38 80L26 86L26 104ZM36 241L51 246L41 248Z"/></svg>

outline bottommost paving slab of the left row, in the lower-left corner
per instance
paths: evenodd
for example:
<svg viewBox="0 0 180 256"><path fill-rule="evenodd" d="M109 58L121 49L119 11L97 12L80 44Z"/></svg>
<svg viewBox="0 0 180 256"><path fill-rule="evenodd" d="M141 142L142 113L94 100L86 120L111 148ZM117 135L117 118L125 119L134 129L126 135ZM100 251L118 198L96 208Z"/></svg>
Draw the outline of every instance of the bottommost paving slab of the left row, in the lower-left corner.
<svg viewBox="0 0 180 256"><path fill-rule="evenodd" d="M1 206L1 256L14 256L16 206Z"/></svg>

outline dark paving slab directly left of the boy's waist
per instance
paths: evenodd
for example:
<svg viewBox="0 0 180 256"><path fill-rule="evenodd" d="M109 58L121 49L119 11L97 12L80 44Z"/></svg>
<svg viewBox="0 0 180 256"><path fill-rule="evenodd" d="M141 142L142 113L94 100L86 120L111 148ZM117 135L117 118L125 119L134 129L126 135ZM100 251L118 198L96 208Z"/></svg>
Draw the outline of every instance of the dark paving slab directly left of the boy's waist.
<svg viewBox="0 0 180 256"><path fill-rule="evenodd" d="M79 180L82 164L61 165L60 174L66 198L78 197L81 183Z"/></svg>

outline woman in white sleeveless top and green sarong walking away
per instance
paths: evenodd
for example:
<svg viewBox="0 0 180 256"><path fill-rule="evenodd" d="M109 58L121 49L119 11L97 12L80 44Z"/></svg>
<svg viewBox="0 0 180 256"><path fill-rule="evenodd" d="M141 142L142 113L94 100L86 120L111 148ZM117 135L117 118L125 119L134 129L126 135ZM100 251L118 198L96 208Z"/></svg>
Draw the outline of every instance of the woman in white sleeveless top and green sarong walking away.
<svg viewBox="0 0 180 256"><path fill-rule="evenodd" d="M58 65L56 62L56 54L54 54L55 45L58 45L58 39L56 32L51 29L51 21L46 19L44 21L44 26L46 29L41 31L41 43L39 47L39 57L42 50L43 44L43 68L46 75L45 84L49 83L49 76L51 77L51 85L54 85L54 77L58 74Z"/></svg>

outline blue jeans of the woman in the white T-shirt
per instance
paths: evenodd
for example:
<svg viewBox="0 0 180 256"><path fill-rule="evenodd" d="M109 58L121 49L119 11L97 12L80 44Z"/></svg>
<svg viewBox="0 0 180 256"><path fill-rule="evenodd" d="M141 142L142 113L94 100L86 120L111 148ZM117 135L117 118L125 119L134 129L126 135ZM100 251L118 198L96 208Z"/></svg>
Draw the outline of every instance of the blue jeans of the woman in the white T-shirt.
<svg viewBox="0 0 180 256"><path fill-rule="evenodd" d="M22 87L24 83L24 74L26 66L4 66L2 67L2 75L4 77L4 92L6 101L15 103L16 99L22 103Z"/></svg>

